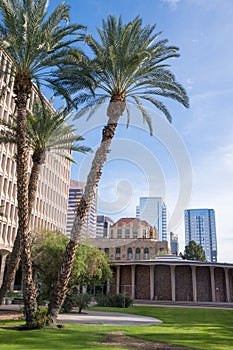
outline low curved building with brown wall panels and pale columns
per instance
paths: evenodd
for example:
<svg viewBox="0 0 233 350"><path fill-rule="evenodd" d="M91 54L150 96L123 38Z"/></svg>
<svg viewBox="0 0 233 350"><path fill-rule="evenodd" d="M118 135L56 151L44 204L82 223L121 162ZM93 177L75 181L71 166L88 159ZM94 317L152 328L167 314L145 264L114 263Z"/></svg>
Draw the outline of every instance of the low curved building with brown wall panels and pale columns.
<svg viewBox="0 0 233 350"><path fill-rule="evenodd" d="M233 264L203 263L177 257L151 261L115 261L112 294L128 294L133 300L182 303L231 303Z"/></svg>

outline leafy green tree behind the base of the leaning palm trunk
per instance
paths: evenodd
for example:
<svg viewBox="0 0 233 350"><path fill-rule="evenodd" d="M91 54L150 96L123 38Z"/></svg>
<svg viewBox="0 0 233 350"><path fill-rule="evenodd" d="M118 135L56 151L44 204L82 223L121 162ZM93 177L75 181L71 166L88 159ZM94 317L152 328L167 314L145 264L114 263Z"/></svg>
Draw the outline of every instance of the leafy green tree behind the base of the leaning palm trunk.
<svg viewBox="0 0 233 350"><path fill-rule="evenodd" d="M59 231L42 231L34 234L32 241L32 261L40 300L48 300L56 284L56 278L68 237ZM80 285L100 284L112 277L108 259L99 249L79 245L68 290ZM76 293L77 295L77 293Z"/></svg>

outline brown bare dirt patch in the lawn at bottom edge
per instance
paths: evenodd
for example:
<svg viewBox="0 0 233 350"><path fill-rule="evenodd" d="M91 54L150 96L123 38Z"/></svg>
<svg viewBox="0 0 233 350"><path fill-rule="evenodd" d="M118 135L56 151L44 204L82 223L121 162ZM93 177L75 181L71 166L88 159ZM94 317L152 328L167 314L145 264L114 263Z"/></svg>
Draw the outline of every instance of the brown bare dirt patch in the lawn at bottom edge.
<svg viewBox="0 0 233 350"><path fill-rule="evenodd" d="M191 348L186 348L183 346L155 343L151 341L128 337L122 332L108 333L102 344L124 347L133 350L191 350Z"/></svg>

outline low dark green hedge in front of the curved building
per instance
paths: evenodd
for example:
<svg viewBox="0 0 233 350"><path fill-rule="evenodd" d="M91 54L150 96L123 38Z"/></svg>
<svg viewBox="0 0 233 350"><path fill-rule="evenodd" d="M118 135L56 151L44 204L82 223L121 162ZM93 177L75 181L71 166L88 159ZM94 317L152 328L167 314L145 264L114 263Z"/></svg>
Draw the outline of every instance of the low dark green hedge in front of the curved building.
<svg viewBox="0 0 233 350"><path fill-rule="evenodd" d="M125 294L97 294L95 297L97 305L109 307L129 307L132 305L132 300Z"/></svg>

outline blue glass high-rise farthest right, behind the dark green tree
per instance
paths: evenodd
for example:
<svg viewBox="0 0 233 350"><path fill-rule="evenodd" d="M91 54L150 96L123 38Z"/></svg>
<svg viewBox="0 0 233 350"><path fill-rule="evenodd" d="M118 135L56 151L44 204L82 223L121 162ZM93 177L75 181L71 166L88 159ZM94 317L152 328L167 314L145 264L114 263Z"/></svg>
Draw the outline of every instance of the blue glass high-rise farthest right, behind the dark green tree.
<svg viewBox="0 0 233 350"><path fill-rule="evenodd" d="M214 209L189 209L184 212L185 245L200 244L207 261L217 261L217 238Z"/></svg>

